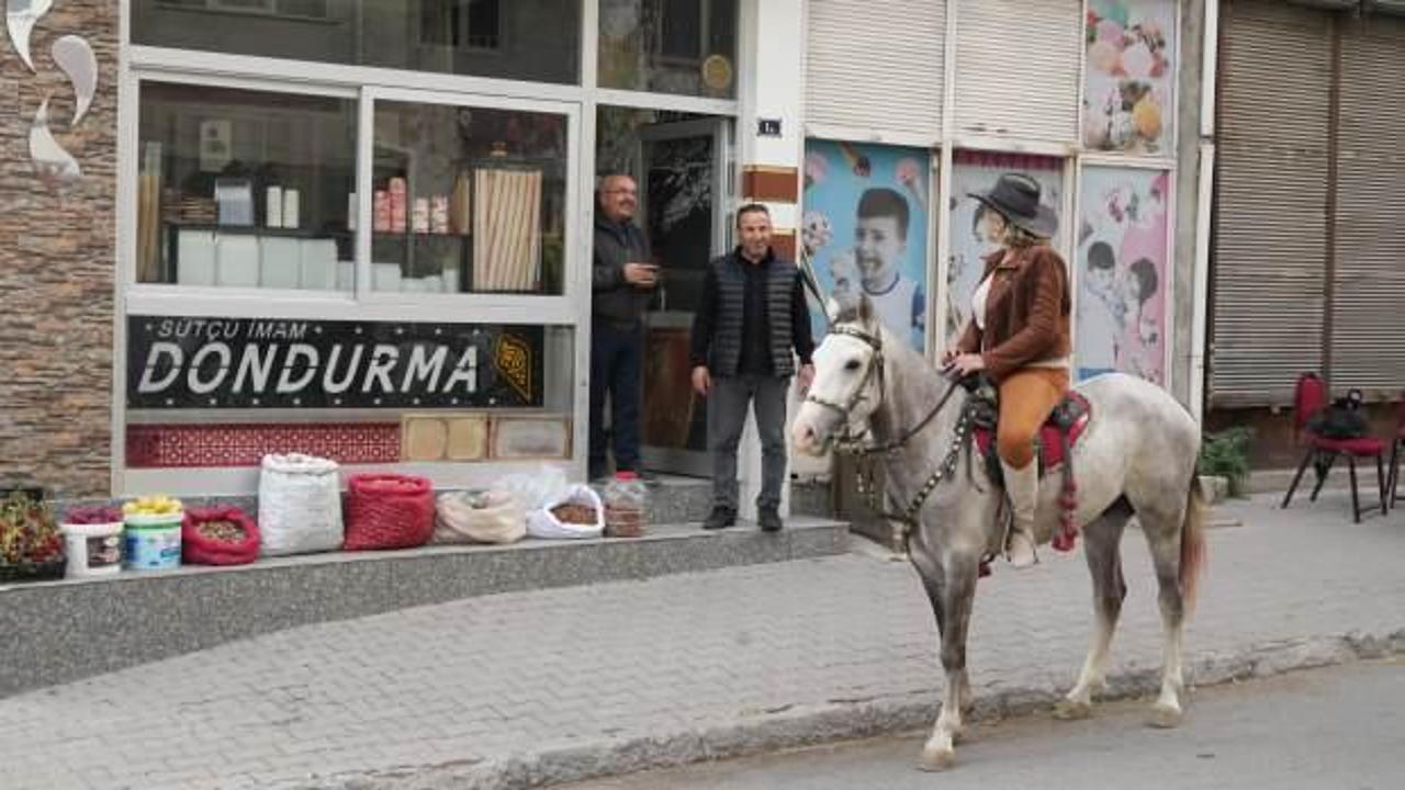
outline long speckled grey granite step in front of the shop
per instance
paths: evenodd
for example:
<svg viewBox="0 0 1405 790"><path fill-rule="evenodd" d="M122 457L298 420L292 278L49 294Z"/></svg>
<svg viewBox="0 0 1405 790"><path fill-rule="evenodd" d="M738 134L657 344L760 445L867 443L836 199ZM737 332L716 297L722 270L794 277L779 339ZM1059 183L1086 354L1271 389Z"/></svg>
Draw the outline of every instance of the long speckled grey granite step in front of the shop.
<svg viewBox="0 0 1405 790"><path fill-rule="evenodd" d="M721 531L674 523L641 538L311 554L0 586L0 697L296 626L503 592L828 557L847 545L847 524L797 516L780 533L749 523Z"/></svg>

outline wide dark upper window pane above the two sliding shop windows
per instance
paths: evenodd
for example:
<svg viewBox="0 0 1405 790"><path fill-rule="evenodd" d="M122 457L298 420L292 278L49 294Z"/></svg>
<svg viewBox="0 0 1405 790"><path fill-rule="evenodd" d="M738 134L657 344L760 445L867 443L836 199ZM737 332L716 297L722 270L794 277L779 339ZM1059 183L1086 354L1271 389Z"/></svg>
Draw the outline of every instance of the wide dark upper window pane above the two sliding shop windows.
<svg viewBox="0 0 1405 790"><path fill-rule="evenodd" d="M576 83L580 0L133 0L132 41Z"/></svg>

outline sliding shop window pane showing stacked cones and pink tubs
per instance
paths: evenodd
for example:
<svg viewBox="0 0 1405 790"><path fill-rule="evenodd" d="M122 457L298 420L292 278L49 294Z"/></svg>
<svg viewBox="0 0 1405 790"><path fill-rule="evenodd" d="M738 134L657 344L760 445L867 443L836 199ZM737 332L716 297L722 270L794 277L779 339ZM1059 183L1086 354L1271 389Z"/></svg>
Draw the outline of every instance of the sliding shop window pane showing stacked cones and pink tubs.
<svg viewBox="0 0 1405 790"><path fill-rule="evenodd" d="M377 101L372 288L562 294L566 117Z"/></svg>

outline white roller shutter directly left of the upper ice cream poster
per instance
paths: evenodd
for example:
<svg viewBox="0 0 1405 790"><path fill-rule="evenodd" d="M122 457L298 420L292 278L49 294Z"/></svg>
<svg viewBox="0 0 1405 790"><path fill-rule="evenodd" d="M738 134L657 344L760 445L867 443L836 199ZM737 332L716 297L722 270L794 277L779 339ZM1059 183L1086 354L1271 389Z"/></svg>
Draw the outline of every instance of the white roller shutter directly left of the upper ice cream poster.
<svg viewBox="0 0 1405 790"><path fill-rule="evenodd" d="M1080 0L957 1L955 135L1076 142Z"/></svg>

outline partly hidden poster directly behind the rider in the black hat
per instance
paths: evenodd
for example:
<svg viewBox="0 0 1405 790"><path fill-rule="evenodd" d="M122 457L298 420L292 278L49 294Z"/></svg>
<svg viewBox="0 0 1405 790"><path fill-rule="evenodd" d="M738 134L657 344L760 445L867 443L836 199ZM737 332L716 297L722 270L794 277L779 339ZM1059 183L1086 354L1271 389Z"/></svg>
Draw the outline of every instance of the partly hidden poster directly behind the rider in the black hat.
<svg viewBox="0 0 1405 790"><path fill-rule="evenodd" d="M955 343L971 322L971 297L985 274L985 256L1000 249L986 238L981 222L981 201L972 193L985 193L1003 173L1021 173L1040 184L1040 202L1061 219L1052 245L1062 242L1064 160L1052 156L957 150L951 160L951 259L947 268L947 343Z"/></svg>

